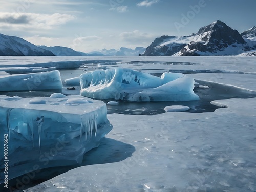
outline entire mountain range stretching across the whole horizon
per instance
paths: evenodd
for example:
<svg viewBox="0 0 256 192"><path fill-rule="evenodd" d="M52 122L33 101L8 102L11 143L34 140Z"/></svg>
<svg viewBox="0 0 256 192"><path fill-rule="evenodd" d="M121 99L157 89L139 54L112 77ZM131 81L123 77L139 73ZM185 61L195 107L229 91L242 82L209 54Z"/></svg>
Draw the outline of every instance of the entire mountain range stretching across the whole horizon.
<svg viewBox="0 0 256 192"><path fill-rule="evenodd" d="M200 56L239 55L255 56L256 27L239 34L217 20L202 27L189 36L163 35L156 38L147 48L102 49L90 53L75 51L68 47L36 46L15 36L0 34L0 56Z"/></svg>

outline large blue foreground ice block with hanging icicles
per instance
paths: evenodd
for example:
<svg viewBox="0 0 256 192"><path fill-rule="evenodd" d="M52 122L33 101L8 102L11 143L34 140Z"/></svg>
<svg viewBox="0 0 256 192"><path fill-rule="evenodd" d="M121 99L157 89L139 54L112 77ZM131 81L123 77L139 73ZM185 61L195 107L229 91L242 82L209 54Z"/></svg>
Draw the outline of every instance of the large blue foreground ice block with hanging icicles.
<svg viewBox="0 0 256 192"><path fill-rule="evenodd" d="M106 112L103 101L79 95L0 96L0 144L4 146L8 134L9 179L34 165L41 169L81 163L84 153L112 129ZM5 167L0 167L2 174Z"/></svg>

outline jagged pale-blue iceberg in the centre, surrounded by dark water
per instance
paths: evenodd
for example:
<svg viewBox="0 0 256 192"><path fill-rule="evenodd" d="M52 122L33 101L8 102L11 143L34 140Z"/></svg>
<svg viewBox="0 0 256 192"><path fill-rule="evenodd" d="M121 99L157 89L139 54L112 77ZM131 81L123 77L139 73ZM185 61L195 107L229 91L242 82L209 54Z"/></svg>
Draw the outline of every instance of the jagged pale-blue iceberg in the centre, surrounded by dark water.
<svg viewBox="0 0 256 192"><path fill-rule="evenodd" d="M160 78L122 68L80 75L82 96L135 102L199 100L193 91L194 82L182 73L163 73Z"/></svg>

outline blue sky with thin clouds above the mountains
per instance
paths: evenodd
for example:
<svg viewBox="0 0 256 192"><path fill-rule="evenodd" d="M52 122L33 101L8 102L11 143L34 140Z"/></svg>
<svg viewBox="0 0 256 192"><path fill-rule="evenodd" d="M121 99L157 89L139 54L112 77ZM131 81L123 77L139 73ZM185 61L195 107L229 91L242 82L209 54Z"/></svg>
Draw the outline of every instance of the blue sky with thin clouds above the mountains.
<svg viewBox="0 0 256 192"><path fill-rule="evenodd" d="M242 33L256 26L255 0L0 0L0 33L76 51L147 47L221 20Z"/></svg>

